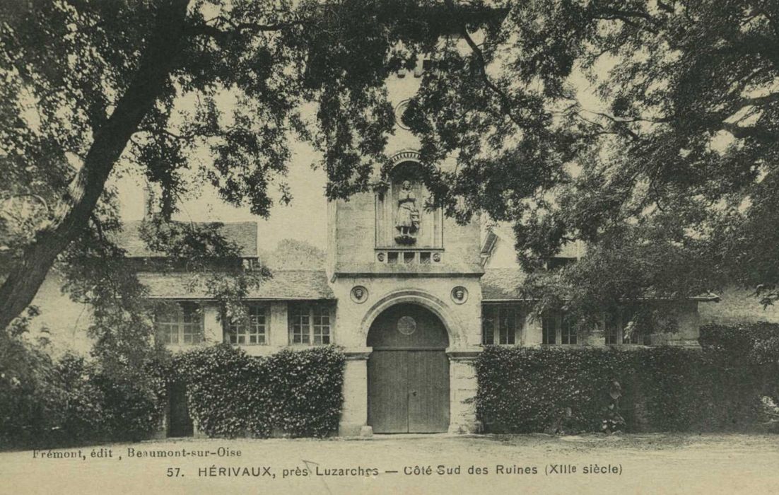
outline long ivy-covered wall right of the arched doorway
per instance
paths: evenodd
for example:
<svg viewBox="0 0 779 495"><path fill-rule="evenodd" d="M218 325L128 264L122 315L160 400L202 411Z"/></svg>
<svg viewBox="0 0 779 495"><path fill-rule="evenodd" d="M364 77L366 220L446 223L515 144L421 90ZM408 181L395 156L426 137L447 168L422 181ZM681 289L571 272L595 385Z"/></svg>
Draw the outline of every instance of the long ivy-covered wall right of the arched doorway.
<svg viewBox="0 0 779 495"><path fill-rule="evenodd" d="M486 348L479 418L513 433L601 431L615 417L627 431L764 429L779 404L779 326L701 333L702 350Z"/></svg>

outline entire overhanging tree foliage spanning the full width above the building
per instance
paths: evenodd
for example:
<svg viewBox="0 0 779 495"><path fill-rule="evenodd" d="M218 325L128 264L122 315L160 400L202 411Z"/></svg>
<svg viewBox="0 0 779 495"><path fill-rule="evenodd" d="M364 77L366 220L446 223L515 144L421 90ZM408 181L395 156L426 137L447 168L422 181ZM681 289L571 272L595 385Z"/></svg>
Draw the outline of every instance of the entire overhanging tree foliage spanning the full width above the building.
<svg viewBox="0 0 779 495"><path fill-rule="evenodd" d="M513 222L530 270L587 242L587 262L553 273L542 304L586 313L732 281L779 297L775 2L34 0L6 12L2 327L55 260L83 260L87 239L118 228L111 175L141 171L165 220L203 179L266 216L273 189L291 197L297 135L321 152L328 196L368 190L389 167L386 78L422 54L430 69L404 117L434 202L461 221Z"/></svg>

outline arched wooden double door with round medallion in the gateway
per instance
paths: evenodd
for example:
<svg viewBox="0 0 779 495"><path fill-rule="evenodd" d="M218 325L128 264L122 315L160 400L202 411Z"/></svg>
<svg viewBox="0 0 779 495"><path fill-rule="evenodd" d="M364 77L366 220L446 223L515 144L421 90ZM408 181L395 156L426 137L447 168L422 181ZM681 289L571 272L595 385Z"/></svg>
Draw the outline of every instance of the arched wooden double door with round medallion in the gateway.
<svg viewBox="0 0 779 495"><path fill-rule="evenodd" d="M416 304L391 306L368 331L368 425L374 433L449 428L449 337L438 316Z"/></svg>

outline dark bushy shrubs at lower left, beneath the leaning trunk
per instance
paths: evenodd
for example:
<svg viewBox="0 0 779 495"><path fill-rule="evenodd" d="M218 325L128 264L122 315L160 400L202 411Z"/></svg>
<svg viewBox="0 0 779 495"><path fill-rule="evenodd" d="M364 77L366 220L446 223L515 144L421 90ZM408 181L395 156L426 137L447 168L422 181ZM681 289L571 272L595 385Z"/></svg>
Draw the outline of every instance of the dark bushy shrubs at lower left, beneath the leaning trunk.
<svg viewBox="0 0 779 495"><path fill-rule="evenodd" d="M140 440L160 426L164 381L149 369L109 373L76 355L55 361L19 338L6 344L0 352L0 447Z"/></svg>

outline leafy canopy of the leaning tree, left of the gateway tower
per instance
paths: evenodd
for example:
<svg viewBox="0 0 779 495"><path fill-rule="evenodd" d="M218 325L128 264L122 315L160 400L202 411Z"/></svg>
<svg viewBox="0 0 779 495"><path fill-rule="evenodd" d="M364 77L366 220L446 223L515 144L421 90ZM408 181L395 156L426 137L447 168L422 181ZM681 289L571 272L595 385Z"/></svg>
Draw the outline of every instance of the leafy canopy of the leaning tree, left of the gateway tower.
<svg viewBox="0 0 779 495"><path fill-rule="evenodd" d="M113 175L140 170L160 190L155 209L166 221L202 179L227 203L267 216L274 188L290 197L280 177L297 133L322 152L331 197L367 189L392 126L383 81L410 56L398 42L436 38L408 22L426 3L9 5L0 167L14 214L0 222L0 327L56 260L95 254L95 238L97 250L117 253L107 235L119 228ZM300 113L307 101L312 122ZM73 253L63 259L65 249Z"/></svg>

